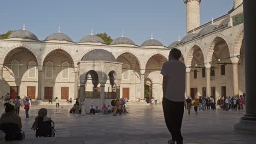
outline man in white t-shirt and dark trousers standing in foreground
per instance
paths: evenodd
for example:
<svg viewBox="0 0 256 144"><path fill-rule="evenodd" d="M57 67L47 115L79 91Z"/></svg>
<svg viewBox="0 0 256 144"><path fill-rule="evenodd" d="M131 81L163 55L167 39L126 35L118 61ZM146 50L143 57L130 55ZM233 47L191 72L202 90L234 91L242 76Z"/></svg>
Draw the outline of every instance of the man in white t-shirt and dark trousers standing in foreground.
<svg viewBox="0 0 256 144"><path fill-rule="evenodd" d="M169 61L162 66L162 107L164 110L165 123L172 135L168 143L181 144L183 137L181 134L182 119L184 114L185 101L185 64L179 61L181 51L172 49L169 54Z"/></svg>

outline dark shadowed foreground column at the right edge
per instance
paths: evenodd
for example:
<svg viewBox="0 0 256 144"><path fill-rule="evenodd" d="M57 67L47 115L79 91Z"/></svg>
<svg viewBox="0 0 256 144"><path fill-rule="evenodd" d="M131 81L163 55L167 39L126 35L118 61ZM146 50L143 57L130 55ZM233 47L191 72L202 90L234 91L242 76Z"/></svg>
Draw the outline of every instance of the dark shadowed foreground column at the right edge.
<svg viewBox="0 0 256 144"><path fill-rule="evenodd" d="M236 130L246 133L256 133L256 49L255 48L255 33L256 21L255 18L256 1L243 1L243 17L245 28L245 71L246 71L246 114L241 117L240 122L235 125Z"/></svg>

